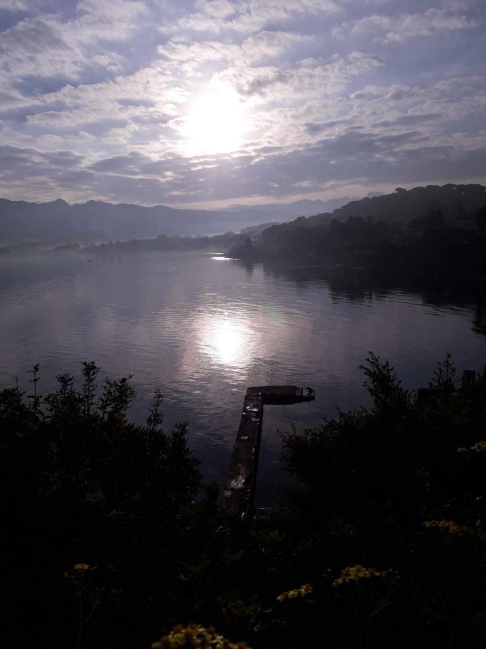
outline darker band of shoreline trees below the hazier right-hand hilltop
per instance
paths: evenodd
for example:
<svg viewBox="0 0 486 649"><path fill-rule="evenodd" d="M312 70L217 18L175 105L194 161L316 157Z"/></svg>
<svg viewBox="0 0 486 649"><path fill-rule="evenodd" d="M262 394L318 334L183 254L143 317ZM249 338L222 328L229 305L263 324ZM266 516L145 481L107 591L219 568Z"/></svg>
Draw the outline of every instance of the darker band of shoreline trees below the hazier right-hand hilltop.
<svg viewBox="0 0 486 649"><path fill-rule="evenodd" d="M237 241L227 254L253 261L343 264L397 278L486 274L486 207L453 223L429 210L408 224L371 217L310 227L301 217Z"/></svg>

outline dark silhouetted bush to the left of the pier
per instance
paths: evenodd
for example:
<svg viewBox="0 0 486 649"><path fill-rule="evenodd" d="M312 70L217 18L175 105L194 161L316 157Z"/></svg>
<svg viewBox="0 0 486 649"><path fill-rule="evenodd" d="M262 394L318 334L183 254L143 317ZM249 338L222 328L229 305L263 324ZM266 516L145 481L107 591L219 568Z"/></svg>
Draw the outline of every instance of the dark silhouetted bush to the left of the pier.
<svg viewBox="0 0 486 649"><path fill-rule="evenodd" d="M209 514L209 502L194 502L187 425L161 430L159 393L146 426L129 423L130 377L98 395L94 363L83 363L80 390L64 374L45 397L38 371L32 394L0 393L10 631L28 628L36 646L75 646L80 628L83 646L150 646L152 628L174 624L179 563L194 556L194 535L203 544ZM97 570L82 581L86 565ZM63 579L69 570L75 579Z"/></svg>

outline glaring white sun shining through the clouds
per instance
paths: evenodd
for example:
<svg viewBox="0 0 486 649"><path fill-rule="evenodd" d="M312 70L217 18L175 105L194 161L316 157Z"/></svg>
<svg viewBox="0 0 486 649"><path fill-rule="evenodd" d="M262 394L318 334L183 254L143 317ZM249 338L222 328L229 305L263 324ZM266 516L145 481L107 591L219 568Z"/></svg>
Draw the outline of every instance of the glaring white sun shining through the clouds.
<svg viewBox="0 0 486 649"><path fill-rule="evenodd" d="M244 109L237 92L226 84L212 84L194 99L187 116L187 153L194 156L236 151L244 130Z"/></svg>

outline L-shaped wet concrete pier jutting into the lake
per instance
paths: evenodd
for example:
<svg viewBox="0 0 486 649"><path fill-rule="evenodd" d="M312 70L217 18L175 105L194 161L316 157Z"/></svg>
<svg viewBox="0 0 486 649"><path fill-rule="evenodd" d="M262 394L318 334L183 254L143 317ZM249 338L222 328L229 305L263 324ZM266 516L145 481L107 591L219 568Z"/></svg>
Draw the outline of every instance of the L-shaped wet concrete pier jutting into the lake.
<svg viewBox="0 0 486 649"><path fill-rule="evenodd" d="M310 387L255 386L246 391L240 428L220 506L220 524L224 527L245 524L253 518L258 458L262 437L263 406L312 401Z"/></svg>

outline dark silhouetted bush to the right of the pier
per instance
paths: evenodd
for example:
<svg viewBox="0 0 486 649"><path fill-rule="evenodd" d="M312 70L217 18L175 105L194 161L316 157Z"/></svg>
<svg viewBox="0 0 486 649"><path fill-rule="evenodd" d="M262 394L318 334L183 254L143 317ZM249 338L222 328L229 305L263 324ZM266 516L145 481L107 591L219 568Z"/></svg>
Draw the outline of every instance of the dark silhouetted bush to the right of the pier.
<svg viewBox="0 0 486 649"><path fill-rule="evenodd" d="M461 390L447 356L418 402L388 362L362 369L371 408L284 434L321 613L337 646L485 646L486 374Z"/></svg>

